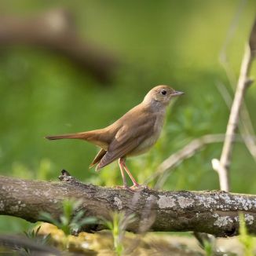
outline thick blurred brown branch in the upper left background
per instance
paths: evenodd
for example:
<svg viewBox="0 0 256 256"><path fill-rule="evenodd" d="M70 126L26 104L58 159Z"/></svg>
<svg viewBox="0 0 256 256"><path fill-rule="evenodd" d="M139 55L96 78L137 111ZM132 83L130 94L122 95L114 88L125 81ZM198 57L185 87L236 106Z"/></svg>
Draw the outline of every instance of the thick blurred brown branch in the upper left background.
<svg viewBox="0 0 256 256"><path fill-rule="evenodd" d="M119 62L112 54L82 40L74 18L64 9L53 9L27 19L1 17L0 49L20 44L49 49L68 57L102 82L112 78Z"/></svg>

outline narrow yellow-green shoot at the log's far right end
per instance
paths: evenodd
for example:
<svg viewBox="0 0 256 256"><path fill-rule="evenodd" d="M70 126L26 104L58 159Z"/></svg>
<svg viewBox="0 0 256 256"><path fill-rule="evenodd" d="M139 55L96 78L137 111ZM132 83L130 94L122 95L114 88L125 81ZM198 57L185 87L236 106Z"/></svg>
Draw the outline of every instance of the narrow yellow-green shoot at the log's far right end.
<svg viewBox="0 0 256 256"><path fill-rule="evenodd" d="M244 256L254 255L254 237L250 236L247 231L246 221L243 214L240 214L240 243L243 244Z"/></svg>

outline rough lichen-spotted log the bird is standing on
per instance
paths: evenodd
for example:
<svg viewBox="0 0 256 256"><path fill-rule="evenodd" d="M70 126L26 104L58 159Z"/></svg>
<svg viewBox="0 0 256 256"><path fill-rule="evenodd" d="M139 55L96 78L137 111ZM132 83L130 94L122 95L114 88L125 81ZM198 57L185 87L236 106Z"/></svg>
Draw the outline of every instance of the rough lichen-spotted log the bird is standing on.
<svg viewBox="0 0 256 256"><path fill-rule="evenodd" d="M0 214L40 221L41 212L54 218L61 214L63 199L82 199L79 210L86 216L110 219L110 212L135 214L127 223L131 232L194 231L215 236L236 236L239 213L243 213L249 232L256 233L256 196L219 191L164 192L144 188L131 192L122 188L104 188L82 184L63 171L62 182L27 181L0 177ZM100 223L82 230L104 229Z"/></svg>

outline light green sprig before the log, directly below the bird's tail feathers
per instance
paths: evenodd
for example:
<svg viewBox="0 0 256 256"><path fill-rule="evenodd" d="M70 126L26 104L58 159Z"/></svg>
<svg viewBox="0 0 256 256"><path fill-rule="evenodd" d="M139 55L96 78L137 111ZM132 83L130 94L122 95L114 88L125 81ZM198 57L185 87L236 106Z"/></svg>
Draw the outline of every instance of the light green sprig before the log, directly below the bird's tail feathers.
<svg viewBox="0 0 256 256"><path fill-rule="evenodd" d="M114 240L115 253L118 256L123 255L123 237L126 232L126 225L133 222L134 215L130 214L127 216L124 212L112 212L112 221L103 219L103 224L110 229Z"/></svg>

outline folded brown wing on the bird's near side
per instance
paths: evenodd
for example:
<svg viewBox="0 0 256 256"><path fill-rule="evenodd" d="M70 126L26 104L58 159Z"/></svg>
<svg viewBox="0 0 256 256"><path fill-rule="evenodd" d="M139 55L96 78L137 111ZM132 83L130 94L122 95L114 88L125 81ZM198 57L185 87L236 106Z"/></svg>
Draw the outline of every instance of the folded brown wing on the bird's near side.
<svg viewBox="0 0 256 256"><path fill-rule="evenodd" d="M122 126L112 143L109 144L108 152L97 165L97 170L132 152L142 141L152 135L154 125L155 118L148 116L146 120L135 119L130 125ZM136 129L134 129L135 127Z"/></svg>

